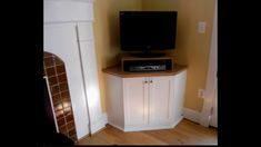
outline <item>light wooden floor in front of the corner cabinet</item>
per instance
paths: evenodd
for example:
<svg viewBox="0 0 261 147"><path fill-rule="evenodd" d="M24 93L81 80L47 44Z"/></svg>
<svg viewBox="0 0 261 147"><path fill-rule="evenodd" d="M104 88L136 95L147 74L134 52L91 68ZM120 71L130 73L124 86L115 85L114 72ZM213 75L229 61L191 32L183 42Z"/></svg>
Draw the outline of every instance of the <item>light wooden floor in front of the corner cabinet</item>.
<svg viewBox="0 0 261 147"><path fill-rule="evenodd" d="M110 125L77 145L218 145L218 129L183 119L173 129L124 133Z"/></svg>

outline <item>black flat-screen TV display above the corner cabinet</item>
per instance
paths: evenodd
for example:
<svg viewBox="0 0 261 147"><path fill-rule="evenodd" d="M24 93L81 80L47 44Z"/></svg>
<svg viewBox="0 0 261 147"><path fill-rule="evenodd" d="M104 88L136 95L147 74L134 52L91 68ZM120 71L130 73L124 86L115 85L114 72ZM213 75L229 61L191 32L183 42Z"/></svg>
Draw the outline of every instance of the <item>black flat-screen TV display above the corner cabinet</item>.
<svg viewBox="0 0 261 147"><path fill-rule="evenodd" d="M120 45L126 51L175 48L177 11L120 11Z"/></svg>

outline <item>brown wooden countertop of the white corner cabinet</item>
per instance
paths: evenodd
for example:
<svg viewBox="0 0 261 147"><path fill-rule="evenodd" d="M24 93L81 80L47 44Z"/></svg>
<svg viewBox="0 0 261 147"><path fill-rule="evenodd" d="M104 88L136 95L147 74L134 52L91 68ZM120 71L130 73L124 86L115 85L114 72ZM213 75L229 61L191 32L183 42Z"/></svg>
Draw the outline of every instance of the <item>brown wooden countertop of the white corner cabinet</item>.
<svg viewBox="0 0 261 147"><path fill-rule="evenodd" d="M187 68L188 66L184 65L174 65L172 70L167 70L167 71L129 72L129 71L122 71L121 66L118 65L104 68L102 69L102 71L122 78L132 78L132 77L174 76L185 70Z"/></svg>

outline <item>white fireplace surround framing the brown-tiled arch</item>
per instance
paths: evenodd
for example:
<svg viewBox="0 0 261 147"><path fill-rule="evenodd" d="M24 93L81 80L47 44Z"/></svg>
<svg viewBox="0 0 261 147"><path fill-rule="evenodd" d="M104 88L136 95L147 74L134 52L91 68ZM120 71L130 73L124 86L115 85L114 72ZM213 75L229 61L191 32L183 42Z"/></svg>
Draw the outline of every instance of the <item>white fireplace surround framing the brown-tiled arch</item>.
<svg viewBox="0 0 261 147"><path fill-rule="evenodd" d="M44 0L44 51L66 65L78 139L103 128L93 39L93 0ZM90 120L90 121L89 121Z"/></svg>

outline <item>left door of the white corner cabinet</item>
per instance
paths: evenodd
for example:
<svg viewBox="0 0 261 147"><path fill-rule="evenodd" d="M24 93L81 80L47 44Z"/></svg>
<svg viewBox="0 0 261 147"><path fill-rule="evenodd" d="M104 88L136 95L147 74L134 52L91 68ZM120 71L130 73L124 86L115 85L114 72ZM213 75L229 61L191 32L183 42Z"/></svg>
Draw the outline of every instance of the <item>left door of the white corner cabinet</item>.
<svg viewBox="0 0 261 147"><path fill-rule="evenodd" d="M148 124L148 84L145 84L145 78L124 78L123 98L126 125Z"/></svg>

